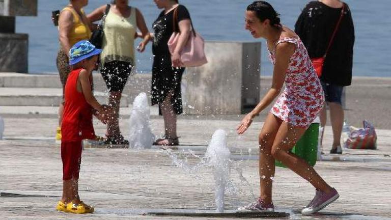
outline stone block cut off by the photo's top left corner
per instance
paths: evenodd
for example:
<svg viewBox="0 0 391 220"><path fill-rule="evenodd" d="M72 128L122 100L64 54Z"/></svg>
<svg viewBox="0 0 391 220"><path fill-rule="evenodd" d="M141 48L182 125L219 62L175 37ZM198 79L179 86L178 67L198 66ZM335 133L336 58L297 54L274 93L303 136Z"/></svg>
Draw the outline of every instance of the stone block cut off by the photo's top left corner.
<svg viewBox="0 0 391 220"><path fill-rule="evenodd" d="M38 0L0 0L0 15L37 16Z"/></svg>

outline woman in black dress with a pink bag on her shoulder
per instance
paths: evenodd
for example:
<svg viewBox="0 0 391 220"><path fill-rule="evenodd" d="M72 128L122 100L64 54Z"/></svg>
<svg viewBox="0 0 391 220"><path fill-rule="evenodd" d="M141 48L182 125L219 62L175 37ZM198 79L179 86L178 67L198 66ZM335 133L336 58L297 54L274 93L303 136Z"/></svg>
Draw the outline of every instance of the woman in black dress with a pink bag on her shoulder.
<svg viewBox="0 0 391 220"><path fill-rule="evenodd" d="M176 0L154 0L159 9L164 9L153 22L154 38L152 53L151 101L159 105L159 113L163 115L165 135L155 145L179 145L177 136L177 115L182 114L181 80L185 70L180 60L180 52L188 40L191 31L190 15L186 7ZM174 12L177 19L174 21ZM175 25L175 26L174 26ZM180 37L173 54L167 42L174 30Z"/></svg>

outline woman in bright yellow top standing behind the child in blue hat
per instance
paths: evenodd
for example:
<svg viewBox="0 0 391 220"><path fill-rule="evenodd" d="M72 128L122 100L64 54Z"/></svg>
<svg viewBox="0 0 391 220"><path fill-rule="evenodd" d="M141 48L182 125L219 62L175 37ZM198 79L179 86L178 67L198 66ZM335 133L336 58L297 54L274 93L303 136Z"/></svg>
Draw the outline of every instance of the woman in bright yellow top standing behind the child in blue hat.
<svg viewBox="0 0 391 220"><path fill-rule="evenodd" d="M64 87L71 68L69 66L69 50L80 40L89 40L91 36L90 21L87 19L83 7L88 5L88 0L70 0L59 18L59 40L60 49L57 54L57 69L59 70L61 83ZM61 121L63 118L64 105L61 102L59 107L59 127L55 138L61 140Z"/></svg>

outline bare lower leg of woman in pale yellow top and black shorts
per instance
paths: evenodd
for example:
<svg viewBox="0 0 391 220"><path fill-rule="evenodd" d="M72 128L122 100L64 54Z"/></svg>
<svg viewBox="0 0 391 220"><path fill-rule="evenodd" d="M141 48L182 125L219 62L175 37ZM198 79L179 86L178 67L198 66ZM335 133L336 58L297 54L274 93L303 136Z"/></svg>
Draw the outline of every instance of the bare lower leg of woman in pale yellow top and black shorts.
<svg viewBox="0 0 391 220"><path fill-rule="evenodd" d="M121 133L119 126L121 92L110 92L108 104L113 108L113 117L107 122L107 136L117 136Z"/></svg>

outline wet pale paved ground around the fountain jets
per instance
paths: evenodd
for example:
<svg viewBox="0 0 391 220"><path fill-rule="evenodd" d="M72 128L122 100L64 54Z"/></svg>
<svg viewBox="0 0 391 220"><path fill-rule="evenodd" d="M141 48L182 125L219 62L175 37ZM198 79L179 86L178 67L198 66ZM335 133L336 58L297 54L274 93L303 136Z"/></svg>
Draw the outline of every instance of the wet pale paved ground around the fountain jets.
<svg viewBox="0 0 391 220"><path fill-rule="evenodd" d="M177 167L170 153L161 149L97 149L83 151L80 196L95 206L87 215L54 210L61 197L62 163L60 145L55 144L56 119L5 118L7 140L0 141L0 219L211 219L203 216L165 216L151 212L213 213L214 179L210 168L192 172ZM259 192L257 139L262 122L255 121L238 138L238 121L186 119L178 121L181 146L171 154L185 167L195 166L213 132L228 132L232 152L231 178L237 195L226 195L226 212L252 202ZM126 135L128 121L121 121ZM104 126L94 121L97 134ZM162 119L152 119L156 134L162 133ZM390 219L391 216L391 131L377 130L378 150L345 150L341 156L327 152L331 129L326 127L323 157L315 169L341 195L340 199L312 216L300 210L314 196L314 188L284 168L276 168L273 202L276 211L289 217L270 219ZM239 172L241 171L241 172ZM240 178L240 174L248 181ZM178 214L176 214L178 215ZM222 216L220 219L227 218ZM216 217L217 218L217 217Z"/></svg>

